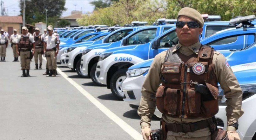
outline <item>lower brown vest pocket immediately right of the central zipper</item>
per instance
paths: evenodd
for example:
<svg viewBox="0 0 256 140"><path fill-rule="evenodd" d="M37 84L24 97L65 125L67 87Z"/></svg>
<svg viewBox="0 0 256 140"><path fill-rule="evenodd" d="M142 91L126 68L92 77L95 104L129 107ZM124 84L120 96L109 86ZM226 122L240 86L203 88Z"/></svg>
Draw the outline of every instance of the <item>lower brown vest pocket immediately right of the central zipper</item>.
<svg viewBox="0 0 256 140"><path fill-rule="evenodd" d="M187 88L188 117L196 117L201 110L201 94L193 88Z"/></svg>

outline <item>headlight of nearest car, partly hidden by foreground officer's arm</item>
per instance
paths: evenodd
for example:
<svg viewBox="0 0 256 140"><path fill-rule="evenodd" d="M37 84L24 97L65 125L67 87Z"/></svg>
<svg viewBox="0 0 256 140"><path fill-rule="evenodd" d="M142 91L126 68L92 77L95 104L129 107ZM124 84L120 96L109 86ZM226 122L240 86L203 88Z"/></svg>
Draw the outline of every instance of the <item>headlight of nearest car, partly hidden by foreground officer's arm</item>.
<svg viewBox="0 0 256 140"><path fill-rule="evenodd" d="M243 92L242 100L246 100L247 98L256 94L256 84L240 85L240 87ZM224 95L224 91L219 86L219 94L218 94L219 106L226 106L226 100L227 99Z"/></svg>

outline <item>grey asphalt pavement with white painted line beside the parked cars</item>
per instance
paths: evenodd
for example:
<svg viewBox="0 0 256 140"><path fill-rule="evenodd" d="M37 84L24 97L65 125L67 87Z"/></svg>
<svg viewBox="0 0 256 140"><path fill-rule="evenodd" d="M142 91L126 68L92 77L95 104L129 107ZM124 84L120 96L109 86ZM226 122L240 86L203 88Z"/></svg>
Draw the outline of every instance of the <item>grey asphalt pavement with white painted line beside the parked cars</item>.
<svg viewBox="0 0 256 140"><path fill-rule="evenodd" d="M116 100L111 90L58 67L56 77L34 70L21 77L19 62L7 48L0 62L0 139L142 139L136 109ZM153 118L152 129L159 128Z"/></svg>

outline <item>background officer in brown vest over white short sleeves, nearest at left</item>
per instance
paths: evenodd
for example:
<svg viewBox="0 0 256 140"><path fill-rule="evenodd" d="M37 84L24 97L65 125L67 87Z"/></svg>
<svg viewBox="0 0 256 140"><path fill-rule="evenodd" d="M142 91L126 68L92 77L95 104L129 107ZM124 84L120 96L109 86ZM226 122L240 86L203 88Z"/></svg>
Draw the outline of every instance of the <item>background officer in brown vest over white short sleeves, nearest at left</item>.
<svg viewBox="0 0 256 140"><path fill-rule="evenodd" d="M27 27L22 27L22 34L20 39L18 40L19 44L16 45L16 52L20 56L21 61L21 69L22 69L22 76L21 77L30 77L29 70L30 70L30 51L31 51L31 43L33 45L34 51L32 54L35 53L35 41L31 34L27 33ZM27 73L25 73L27 70Z"/></svg>

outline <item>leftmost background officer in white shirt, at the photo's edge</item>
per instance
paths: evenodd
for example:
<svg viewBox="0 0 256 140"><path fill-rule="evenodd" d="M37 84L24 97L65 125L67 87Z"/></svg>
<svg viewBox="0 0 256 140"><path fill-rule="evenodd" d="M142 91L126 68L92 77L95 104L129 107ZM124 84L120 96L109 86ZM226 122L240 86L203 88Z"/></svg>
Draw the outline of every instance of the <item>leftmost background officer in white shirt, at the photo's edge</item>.
<svg viewBox="0 0 256 140"><path fill-rule="evenodd" d="M1 29L1 36L0 36L0 57L1 61L5 61L6 57L6 48L8 46L8 36L4 35L4 30Z"/></svg>

